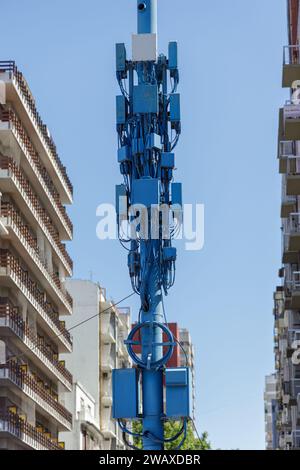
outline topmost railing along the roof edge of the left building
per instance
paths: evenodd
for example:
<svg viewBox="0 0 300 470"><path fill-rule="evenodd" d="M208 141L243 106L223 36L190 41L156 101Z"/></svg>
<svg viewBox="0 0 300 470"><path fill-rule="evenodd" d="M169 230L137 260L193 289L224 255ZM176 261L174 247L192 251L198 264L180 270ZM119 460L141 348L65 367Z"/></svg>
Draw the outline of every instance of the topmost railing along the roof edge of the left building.
<svg viewBox="0 0 300 470"><path fill-rule="evenodd" d="M35 122L35 125L37 126L37 128L39 129L39 132L44 140L44 142L46 143L46 146L47 146L47 149L48 149L48 152L51 154L51 157L53 159L53 162L54 162L54 166L56 167L58 173L60 174L60 176L62 177L64 183L66 184L69 192L71 193L71 195L73 195L73 186L69 180L69 177L67 175L67 172L66 172L66 168L64 167L64 165L62 164L59 156L57 155L57 150L56 150L56 146L54 144L54 141L52 139L52 137L50 136L49 134L49 131L48 131L48 128L47 126L43 123L37 109L36 109L36 105L35 105L35 101L31 95L31 92L28 88L28 85L26 83L26 80L24 79L23 75L21 72L18 71L17 67L16 67L16 64L14 61L6 61L6 62L3 62L1 61L0 62L0 72L9 72L13 78L15 79L15 83L19 89L19 91L21 92L30 112L31 112L31 116Z"/></svg>

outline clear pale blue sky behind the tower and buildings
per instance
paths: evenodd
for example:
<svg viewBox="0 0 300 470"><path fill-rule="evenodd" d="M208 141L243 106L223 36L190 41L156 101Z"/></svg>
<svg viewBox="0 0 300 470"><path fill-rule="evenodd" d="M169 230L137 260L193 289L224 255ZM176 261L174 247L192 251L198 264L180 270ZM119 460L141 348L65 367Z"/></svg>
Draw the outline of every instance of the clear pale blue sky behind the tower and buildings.
<svg viewBox="0 0 300 470"><path fill-rule="evenodd" d="M96 238L114 201L114 44L136 30L135 0L1 4L1 60L15 59L75 187L75 277L130 292L126 253ZM264 447L264 376L273 370L272 293L280 266L276 141L285 0L159 0L159 44L180 45L183 135L177 179L206 207L205 248L180 251L169 320L196 349L197 426L216 448ZM136 316L137 302L132 302Z"/></svg>

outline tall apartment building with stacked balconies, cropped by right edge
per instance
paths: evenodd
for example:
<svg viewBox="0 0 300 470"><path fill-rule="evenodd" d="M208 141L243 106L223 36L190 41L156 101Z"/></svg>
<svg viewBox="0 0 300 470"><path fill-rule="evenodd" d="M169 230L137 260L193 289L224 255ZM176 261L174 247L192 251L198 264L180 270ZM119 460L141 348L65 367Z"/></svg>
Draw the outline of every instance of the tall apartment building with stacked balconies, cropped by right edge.
<svg viewBox="0 0 300 470"><path fill-rule="evenodd" d="M300 449L300 22L299 0L287 1L288 45L282 85L288 99L279 111L278 159L282 175L281 285L274 294L274 352L279 449ZM274 444L273 444L274 445Z"/></svg>

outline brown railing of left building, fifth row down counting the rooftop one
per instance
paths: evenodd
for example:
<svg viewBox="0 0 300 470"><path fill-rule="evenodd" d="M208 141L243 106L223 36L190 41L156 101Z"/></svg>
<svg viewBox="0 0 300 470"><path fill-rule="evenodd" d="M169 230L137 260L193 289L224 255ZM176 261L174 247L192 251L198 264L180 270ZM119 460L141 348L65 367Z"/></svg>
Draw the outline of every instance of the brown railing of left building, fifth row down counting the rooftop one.
<svg viewBox="0 0 300 470"><path fill-rule="evenodd" d="M43 315L49 319L61 335L67 340L69 345L72 345L70 333L64 327L64 323L59 320L58 312L56 312L47 300L45 293L39 288L38 284L33 281L21 265L17 258L15 258L9 250L0 250L0 268L6 269L7 274L13 273L17 278L19 284L31 295L37 305L43 312Z"/></svg>

